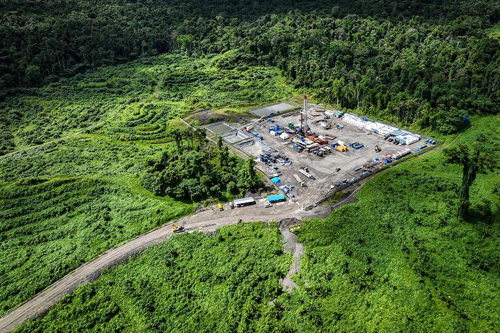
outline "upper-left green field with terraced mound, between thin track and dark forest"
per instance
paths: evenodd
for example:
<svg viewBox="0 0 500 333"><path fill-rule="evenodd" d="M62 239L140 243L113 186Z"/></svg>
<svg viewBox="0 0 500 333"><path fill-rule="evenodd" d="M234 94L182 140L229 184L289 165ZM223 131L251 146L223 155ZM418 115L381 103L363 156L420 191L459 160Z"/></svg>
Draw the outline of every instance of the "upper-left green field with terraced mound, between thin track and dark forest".
<svg viewBox="0 0 500 333"><path fill-rule="evenodd" d="M225 54L160 55L99 67L0 103L0 154L100 123L121 141L165 141L171 120L196 109L292 95L275 67L220 68ZM162 80L158 85L158 77ZM157 86L157 96L154 89ZM1 131L9 130L6 139Z"/></svg>

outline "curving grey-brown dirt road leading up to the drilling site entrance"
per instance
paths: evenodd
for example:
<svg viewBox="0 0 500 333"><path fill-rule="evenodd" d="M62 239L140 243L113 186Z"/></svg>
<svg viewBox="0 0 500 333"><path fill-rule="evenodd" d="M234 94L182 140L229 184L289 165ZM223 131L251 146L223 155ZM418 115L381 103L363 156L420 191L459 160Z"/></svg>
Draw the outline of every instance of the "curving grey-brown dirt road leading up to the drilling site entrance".
<svg viewBox="0 0 500 333"><path fill-rule="evenodd" d="M225 206L225 210L221 212L213 207L173 223L182 224L186 231L212 232L218 227L235 224L239 219L242 221L271 222L292 217L303 219L316 215L314 210L303 211L299 205L290 201L274 204L270 208L264 208L263 202L257 202L254 206L232 210ZM150 246L164 242L171 235L172 223L169 223L104 252L97 259L79 267L73 273L0 318L0 332L11 332L22 323L47 312L64 295L72 293L78 286L95 280L104 269L117 265Z"/></svg>

